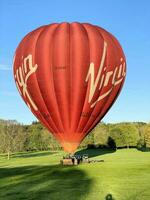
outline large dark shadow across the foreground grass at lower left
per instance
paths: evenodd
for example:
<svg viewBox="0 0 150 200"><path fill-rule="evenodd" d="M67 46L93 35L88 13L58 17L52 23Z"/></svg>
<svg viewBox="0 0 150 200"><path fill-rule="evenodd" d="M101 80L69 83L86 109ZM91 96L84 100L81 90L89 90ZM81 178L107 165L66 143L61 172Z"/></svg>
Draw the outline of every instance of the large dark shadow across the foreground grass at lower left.
<svg viewBox="0 0 150 200"><path fill-rule="evenodd" d="M92 180L77 167L23 166L0 168L2 200L86 199Z"/></svg>

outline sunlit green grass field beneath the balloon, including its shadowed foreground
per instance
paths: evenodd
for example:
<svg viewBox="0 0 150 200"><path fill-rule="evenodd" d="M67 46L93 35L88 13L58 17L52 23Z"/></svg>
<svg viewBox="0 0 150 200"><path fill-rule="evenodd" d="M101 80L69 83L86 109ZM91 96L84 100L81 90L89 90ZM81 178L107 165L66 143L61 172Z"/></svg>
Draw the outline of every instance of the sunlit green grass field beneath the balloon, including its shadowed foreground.
<svg viewBox="0 0 150 200"><path fill-rule="evenodd" d="M85 151L81 151L85 153ZM89 150L104 162L63 167L62 152L0 156L0 200L150 200L150 152Z"/></svg>

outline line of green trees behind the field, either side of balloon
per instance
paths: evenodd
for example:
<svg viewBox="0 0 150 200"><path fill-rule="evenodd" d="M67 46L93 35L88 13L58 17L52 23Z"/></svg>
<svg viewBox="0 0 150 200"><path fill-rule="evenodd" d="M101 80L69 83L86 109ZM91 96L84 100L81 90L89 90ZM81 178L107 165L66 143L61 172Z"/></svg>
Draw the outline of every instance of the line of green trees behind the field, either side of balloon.
<svg viewBox="0 0 150 200"><path fill-rule="evenodd" d="M150 123L99 123L79 148L150 148ZM0 153L60 150L61 146L40 122L22 125L0 120Z"/></svg>

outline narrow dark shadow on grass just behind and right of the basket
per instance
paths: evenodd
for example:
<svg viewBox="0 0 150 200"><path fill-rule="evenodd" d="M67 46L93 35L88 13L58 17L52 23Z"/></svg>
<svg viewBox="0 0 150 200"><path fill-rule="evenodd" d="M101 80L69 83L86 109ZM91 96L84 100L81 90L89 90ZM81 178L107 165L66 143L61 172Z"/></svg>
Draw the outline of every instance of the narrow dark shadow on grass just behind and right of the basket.
<svg viewBox="0 0 150 200"><path fill-rule="evenodd" d="M75 155L83 155L88 154L89 158L101 156L108 153L114 153L115 149L100 149L100 148L94 148L94 149L82 149L75 153Z"/></svg>

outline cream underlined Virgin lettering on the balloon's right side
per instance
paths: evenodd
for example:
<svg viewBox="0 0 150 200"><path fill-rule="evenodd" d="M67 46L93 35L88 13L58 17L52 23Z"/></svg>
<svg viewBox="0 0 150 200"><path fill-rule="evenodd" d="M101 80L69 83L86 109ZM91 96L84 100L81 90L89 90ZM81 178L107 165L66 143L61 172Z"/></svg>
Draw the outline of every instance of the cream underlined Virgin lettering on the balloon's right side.
<svg viewBox="0 0 150 200"><path fill-rule="evenodd" d="M104 67L106 52L107 52L107 43L104 41L102 59L101 59L100 67L98 70L98 74L95 77L94 63L92 62L90 64L89 71L88 71L88 74L87 74L87 77L85 80L86 82L88 82L90 80L88 103L91 104L91 106L90 106L91 108L93 108L97 102L99 102L102 99L104 99L105 97L107 97L111 93L112 89L116 85L120 84L123 81L123 79L126 75L125 61L123 61L123 58L120 58L121 63L119 66L115 67L114 71L106 72L106 67ZM97 86L99 86L98 89L101 90L101 89L104 89L105 87L107 87L108 84L111 84L111 87L109 87L109 89L106 90L106 92L100 94L100 96L98 97L98 99L95 102L91 103Z"/></svg>

